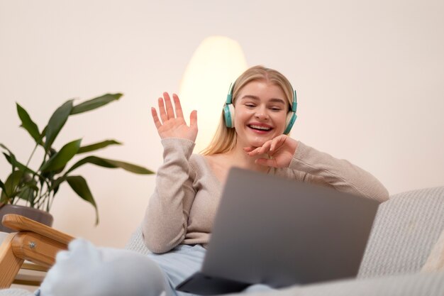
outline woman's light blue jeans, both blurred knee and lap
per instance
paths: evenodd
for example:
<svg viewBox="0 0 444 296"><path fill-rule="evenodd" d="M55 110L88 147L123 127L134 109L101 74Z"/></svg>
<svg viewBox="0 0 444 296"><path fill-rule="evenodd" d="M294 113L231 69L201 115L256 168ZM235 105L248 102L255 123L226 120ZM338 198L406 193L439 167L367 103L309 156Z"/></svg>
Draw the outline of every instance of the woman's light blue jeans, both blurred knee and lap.
<svg viewBox="0 0 444 296"><path fill-rule="evenodd" d="M57 253L37 296L190 296L174 288L201 270L206 249L180 245L162 254L142 255L129 250L97 248L75 239ZM244 292L271 290L252 285Z"/></svg>

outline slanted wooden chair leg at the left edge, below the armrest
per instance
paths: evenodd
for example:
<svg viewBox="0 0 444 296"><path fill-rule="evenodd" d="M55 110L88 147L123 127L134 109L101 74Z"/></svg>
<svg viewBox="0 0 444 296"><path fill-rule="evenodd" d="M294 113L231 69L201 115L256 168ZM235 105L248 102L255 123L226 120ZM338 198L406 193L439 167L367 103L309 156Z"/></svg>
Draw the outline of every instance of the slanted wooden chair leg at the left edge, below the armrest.
<svg viewBox="0 0 444 296"><path fill-rule="evenodd" d="M23 264L23 259L16 257L12 251L12 241L16 234L6 236L0 246L0 289L11 286Z"/></svg>

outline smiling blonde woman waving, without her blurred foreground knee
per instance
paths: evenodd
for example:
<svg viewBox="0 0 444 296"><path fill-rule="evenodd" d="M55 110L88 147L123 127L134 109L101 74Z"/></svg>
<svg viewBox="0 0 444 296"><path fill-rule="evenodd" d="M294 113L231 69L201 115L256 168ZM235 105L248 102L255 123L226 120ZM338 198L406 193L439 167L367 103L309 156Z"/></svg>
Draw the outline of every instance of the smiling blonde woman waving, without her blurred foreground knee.
<svg viewBox="0 0 444 296"><path fill-rule="evenodd" d="M166 92L158 99L159 113L151 110L164 163L157 171L143 236L153 252L150 258L164 273L167 295L180 294L174 286L199 270L221 190L234 166L381 202L389 196L368 172L287 136L296 118L296 94L279 72L251 67L238 77L228 96L216 136L201 155L192 153L196 111L187 126L179 97L173 94L172 102Z"/></svg>

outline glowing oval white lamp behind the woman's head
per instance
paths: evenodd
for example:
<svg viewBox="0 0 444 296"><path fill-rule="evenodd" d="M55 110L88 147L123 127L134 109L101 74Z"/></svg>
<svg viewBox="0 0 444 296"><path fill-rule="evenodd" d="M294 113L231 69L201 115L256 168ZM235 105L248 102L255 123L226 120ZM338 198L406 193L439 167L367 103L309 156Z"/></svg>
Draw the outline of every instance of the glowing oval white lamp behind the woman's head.
<svg viewBox="0 0 444 296"><path fill-rule="evenodd" d="M213 138L230 83L247 69L239 43L224 36L202 41L189 61L179 90L184 116L197 110L196 152ZM189 121L189 117L186 118Z"/></svg>

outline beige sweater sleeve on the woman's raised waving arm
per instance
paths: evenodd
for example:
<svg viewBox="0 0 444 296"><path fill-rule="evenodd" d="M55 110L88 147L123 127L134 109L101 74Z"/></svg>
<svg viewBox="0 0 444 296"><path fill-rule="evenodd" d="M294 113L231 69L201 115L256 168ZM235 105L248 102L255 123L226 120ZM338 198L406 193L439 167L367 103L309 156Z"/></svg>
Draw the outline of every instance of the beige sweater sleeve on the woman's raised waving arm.
<svg viewBox="0 0 444 296"><path fill-rule="evenodd" d="M162 146L164 163L142 224L143 241L153 253L165 253L183 241L195 196L189 165L194 143L166 138Z"/></svg>

